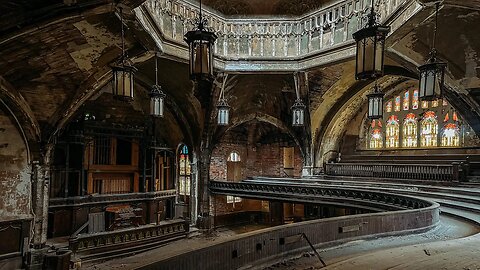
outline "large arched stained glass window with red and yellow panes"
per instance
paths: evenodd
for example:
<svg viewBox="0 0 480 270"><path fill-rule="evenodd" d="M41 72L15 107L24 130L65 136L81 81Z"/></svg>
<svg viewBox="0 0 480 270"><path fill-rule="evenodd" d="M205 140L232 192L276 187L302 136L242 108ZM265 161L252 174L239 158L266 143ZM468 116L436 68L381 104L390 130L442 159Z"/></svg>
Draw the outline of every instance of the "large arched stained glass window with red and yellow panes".
<svg viewBox="0 0 480 270"><path fill-rule="evenodd" d="M465 132L459 128L459 117L444 98L421 101L418 90L403 90L385 103L386 121L369 122L365 146L368 149L459 147L465 141L459 139Z"/></svg>

